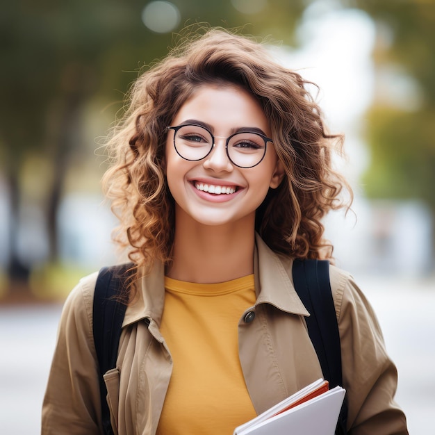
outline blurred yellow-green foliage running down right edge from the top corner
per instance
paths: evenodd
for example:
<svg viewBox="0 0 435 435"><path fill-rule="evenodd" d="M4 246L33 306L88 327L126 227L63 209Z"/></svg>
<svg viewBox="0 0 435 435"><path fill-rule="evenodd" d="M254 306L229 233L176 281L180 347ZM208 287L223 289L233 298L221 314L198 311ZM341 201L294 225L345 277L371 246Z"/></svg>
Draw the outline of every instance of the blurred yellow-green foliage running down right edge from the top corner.
<svg viewBox="0 0 435 435"><path fill-rule="evenodd" d="M372 162L366 192L377 198L422 199L435 210L435 1L354 3L378 27L374 56L380 79L367 120ZM382 72L392 69L388 83ZM394 70L402 81L395 80ZM409 104L406 99L394 104L407 84L403 77L412 84ZM382 98L383 87L392 88L393 101Z"/></svg>

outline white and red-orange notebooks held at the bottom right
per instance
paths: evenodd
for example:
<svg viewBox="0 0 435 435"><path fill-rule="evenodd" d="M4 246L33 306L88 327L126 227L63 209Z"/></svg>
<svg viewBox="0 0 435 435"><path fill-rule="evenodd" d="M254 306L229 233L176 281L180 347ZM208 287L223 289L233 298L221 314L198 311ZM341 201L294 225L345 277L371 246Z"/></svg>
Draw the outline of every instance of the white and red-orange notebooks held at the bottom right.
<svg viewBox="0 0 435 435"><path fill-rule="evenodd" d="M318 379L256 418L233 435L334 435L345 390Z"/></svg>

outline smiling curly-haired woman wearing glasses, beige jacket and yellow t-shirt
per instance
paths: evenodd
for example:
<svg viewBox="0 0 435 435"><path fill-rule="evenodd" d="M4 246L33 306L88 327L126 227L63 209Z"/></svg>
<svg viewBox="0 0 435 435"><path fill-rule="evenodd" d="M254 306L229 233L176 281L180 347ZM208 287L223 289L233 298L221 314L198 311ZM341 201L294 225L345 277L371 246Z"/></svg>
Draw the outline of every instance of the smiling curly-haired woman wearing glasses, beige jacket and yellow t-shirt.
<svg viewBox="0 0 435 435"><path fill-rule="evenodd" d="M139 76L104 177L135 272L116 368L104 376L114 433L231 435L322 377L292 267L331 260L322 218L346 206L347 183L331 167L341 140L299 74L222 29ZM331 265L329 277L347 430L407 434L375 314L350 274ZM65 303L43 434L103 432L96 279Z"/></svg>

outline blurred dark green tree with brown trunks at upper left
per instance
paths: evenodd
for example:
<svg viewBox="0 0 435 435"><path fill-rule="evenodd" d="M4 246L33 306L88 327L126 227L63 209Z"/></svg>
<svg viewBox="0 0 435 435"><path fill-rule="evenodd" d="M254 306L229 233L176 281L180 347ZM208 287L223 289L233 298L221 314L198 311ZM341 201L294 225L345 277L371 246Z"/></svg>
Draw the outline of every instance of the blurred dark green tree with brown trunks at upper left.
<svg viewBox="0 0 435 435"><path fill-rule="evenodd" d="M26 275L17 249L19 215L28 199L24 167L32 156L48 165L43 210L49 261L56 261L56 213L65 173L73 154L83 150L83 108L90 99L122 100L142 63L152 63L173 45L173 35L150 31L142 22L149 1L17 0L0 14L0 170L10 192L13 215L9 273ZM180 13L177 32L186 24L206 22L245 33L273 35L294 43L306 1L174 0ZM128 73L126 73L126 71ZM113 111L122 107L113 107Z"/></svg>

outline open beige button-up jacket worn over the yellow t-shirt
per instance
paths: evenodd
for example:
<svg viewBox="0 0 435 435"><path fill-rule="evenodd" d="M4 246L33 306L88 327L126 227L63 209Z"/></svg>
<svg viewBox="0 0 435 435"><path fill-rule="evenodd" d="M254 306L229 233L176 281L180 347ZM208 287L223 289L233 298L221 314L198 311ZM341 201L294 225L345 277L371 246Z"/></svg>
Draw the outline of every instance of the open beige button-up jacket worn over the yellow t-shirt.
<svg viewBox="0 0 435 435"><path fill-rule="evenodd" d="M309 315L291 276L292 261L257 237L256 305L239 322L240 363L257 413L322 377L306 331ZM352 435L408 434L393 401L397 373L372 308L349 274L331 266ZM42 409L42 434L101 434L92 298L97 274L81 280L65 302ZM142 279L138 301L124 318L117 368L104 375L115 434L155 434L172 359L158 329L164 270ZM247 312L248 312L247 311Z"/></svg>

